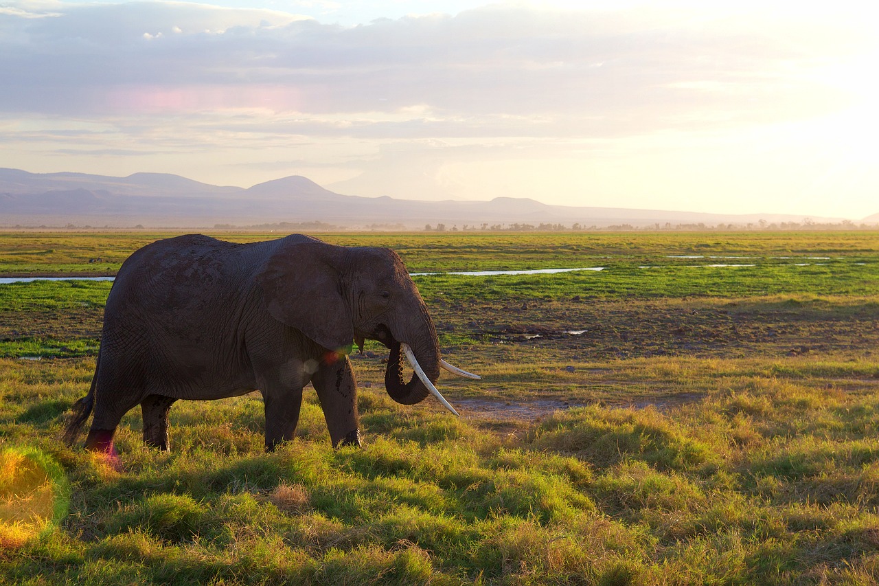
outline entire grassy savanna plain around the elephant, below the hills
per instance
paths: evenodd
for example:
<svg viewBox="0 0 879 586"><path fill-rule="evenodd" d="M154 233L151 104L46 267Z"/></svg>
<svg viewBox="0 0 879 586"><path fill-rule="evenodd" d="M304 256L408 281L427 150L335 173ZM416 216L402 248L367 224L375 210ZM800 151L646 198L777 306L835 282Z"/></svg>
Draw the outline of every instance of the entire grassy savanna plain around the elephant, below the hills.
<svg viewBox="0 0 879 586"><path fill-rule="evenodd" d="M248 241L276 234L215 234ZM0 277L114 275L163 234L0 234ZM0 582L879 582L879 233L325 234L405 261L461 413L352 355L364 447L308 389L171 408L171 451L60 439L110 282L0 285ZM582 268L558 274L455 272ZM600 269L600 270L598 270Z"/></svg>

